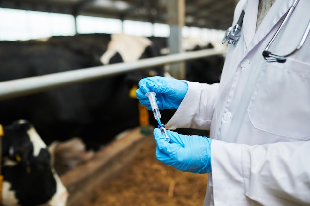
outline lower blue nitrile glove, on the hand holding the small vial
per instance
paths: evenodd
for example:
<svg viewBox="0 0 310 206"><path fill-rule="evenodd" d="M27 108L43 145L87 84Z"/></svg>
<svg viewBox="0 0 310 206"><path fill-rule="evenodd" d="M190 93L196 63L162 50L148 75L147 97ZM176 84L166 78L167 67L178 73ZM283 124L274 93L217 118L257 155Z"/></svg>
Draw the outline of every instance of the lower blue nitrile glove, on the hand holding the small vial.
<svg viewBox="0 0 310 206"><path fill-rule="evenodd" d="M170 143L157 128L154 138L157 144L156 158L181 171L205 174L211 172L212 139L198 135L182 135L167 131Z"/></svg>

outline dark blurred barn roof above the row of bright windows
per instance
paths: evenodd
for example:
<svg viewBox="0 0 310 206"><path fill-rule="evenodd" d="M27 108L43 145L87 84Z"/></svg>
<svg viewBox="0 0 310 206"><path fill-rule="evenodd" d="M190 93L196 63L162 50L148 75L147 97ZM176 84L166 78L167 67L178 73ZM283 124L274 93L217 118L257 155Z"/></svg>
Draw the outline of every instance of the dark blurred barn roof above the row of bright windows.
<svg viewBox="0 0 310 206"><path fill-rule="evenodd" d="M168 0L0 0L0 7L167 23ZM227 29L238 0L185 0L185 25Z"/></svg>

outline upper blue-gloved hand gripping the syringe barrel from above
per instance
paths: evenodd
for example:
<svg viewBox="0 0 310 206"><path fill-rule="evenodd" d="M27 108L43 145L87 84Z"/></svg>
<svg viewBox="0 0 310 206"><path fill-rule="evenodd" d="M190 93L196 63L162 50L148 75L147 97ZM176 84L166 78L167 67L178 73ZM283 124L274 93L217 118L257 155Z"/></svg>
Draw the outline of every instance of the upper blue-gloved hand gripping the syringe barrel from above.
<svg viewBox="0 0 310 206"><path fill-rule="evenodd" d="M186 82L167 77L147 77L139 81L139 89L136 90L137 98L143 106L151 110L148 97L145 94L149 91L156 93L156 100L159 109L177 109L188 89Z"/></svg>

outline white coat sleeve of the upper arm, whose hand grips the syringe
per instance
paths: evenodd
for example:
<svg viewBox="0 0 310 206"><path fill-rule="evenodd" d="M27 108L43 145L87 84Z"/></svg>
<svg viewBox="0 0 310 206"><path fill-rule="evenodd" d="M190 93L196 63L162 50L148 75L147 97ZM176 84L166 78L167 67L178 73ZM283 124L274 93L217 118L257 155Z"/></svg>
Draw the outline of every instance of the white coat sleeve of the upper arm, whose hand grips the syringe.
<svg viewBox="0 0 310 206"><path fill-rule="evenodd" d="M206 84L185 81L188 91L179 108L166 124L168 129L193 128L209 130L219 83Z"/></svg>

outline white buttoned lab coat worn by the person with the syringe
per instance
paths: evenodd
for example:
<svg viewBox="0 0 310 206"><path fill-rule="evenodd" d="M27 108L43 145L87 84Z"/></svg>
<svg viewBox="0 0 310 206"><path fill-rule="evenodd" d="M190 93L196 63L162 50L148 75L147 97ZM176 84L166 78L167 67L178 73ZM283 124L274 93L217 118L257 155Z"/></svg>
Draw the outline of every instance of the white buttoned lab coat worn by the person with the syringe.
<svg viewBox="0 0 310 206"><path fill-rule="evenodd" d="M241 0L241 39L229 45L219 84L188 82L167 128L210 129L212 172L205 206L310 205L310 35L285 63L262 52L294 0L276 0L257 31L258 0ZM310 19L300 0L270 50L292 51Z"/></svg>

